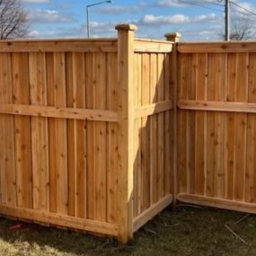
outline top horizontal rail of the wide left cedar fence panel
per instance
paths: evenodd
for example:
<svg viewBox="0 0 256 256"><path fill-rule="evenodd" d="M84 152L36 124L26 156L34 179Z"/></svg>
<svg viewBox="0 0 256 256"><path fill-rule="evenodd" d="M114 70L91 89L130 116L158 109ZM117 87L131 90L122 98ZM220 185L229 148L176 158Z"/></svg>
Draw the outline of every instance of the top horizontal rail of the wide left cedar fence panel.
<svg viewBox="0 0 256 256"><path fill-rule="evenodd" d="M117 52L117 40L2 40L0 52Z"/></svg>

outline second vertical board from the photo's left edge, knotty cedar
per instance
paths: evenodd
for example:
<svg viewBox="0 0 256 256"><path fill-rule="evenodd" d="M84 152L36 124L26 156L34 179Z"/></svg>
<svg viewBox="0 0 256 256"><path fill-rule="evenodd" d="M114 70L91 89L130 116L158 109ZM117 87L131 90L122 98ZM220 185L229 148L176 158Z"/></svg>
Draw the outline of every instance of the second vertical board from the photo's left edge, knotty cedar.
<svg viewBox="0 0 256 256"><path fill-rule="evenodd" d="M13 103L29 104L29 57L13 53ZM14 117L17 205L32 207L31 118Z"/></svg>

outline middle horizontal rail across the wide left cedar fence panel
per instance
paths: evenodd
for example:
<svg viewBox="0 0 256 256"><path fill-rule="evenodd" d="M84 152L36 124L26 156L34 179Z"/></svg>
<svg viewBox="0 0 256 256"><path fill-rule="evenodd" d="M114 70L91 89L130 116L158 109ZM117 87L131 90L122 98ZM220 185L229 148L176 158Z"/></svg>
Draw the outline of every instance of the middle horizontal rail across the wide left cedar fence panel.
<svg viewBox="0 0 256 256"><path fill-rule="evenodd" d="M58 108L49 106L0 103L0 113L57 119L88 119L93 121L109 122L118 121L118 113L114 110Z"/></svg>

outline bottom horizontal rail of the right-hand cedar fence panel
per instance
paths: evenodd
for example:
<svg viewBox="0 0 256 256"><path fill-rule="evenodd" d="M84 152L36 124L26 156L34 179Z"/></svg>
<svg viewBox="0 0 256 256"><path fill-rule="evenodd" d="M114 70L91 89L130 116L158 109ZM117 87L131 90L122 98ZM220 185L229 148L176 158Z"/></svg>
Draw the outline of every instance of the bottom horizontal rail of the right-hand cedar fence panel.
<svg viewBox="0 0 256 256"><path fill-rule="evenodd" d="M252 203L238 202L228 199L216 199L190 194L179 194L178 200L184 203L190 203L199 206L217 207L222 209L256 214L256 204Z"/></svg>

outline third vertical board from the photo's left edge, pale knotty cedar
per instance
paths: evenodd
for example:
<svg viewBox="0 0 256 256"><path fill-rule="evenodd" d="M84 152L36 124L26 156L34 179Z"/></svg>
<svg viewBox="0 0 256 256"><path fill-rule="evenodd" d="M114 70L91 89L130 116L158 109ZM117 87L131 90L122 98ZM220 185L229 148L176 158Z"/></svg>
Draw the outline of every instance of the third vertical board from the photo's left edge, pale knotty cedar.
<svg viewBox="0 0 256 256"><path fill-rule="evenodd" d="M30 94L32 105L47 105L46 58L30 53ZM31 117L33 208L49 210L48 120Z"/></svg>

